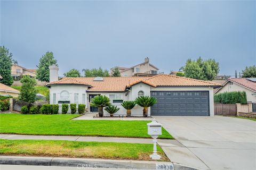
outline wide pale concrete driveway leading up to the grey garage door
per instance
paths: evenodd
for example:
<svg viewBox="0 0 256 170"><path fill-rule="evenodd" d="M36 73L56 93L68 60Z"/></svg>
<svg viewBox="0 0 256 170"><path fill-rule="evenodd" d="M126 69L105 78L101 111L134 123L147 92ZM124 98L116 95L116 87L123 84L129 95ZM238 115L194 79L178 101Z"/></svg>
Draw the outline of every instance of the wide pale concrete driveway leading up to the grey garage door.
<svg viewBox="0 0 256 170"><path fill-rule="evenodd" d="M162 146L197 169L256 169L256 122L234 117L154 116L183 146Z"/></svg>

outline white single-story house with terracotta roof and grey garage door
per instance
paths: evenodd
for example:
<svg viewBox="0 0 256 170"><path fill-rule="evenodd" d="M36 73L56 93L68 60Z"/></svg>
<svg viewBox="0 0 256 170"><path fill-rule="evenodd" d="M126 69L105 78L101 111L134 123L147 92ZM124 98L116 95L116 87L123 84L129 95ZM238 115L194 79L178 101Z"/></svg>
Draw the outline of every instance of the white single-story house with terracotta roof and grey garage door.
<svg viewBox="0 0 256 170"><path fill-rule="evenodd" d="M213 89L218 83L159 74L153 77L63 78L58 80L58 67L50 66L50 104L76 103L90 107L94 96L105 95L113 105L121 108L116 115L125 115L121 103L138 96L153 96L157 104L149 108L149 115L213 116ZM135 106L132 115L142 116L142 107ZM61 112L61 109L60 111ZM70 110L69 110L70 112ZM107 115L104 111L104 114Z"/></svg>

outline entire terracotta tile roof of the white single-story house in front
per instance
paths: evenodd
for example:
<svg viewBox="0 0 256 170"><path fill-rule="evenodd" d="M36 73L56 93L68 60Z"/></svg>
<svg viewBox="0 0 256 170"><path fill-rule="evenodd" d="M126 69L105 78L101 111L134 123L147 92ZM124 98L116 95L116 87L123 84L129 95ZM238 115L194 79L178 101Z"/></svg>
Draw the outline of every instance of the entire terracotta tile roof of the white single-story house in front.
<svg viewBox="0 0 256 170"><path fill-rule="evenodd" d="M94 81L95 78L63 78L46 84L82 84L90 86L87 91L125 91L126 87L143 82L150 86L221 86L221 84L203 80L195 80L174 75L160 74L154 77L105 77L103 81Z"/></svg>

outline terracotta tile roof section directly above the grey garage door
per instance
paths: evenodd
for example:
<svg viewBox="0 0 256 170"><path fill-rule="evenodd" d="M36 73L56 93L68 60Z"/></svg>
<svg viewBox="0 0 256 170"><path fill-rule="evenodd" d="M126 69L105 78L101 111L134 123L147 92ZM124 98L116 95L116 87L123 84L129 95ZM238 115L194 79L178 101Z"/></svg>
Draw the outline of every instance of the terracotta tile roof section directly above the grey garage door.
<svg viewBox="0 0 256 170"><path fill-rule="evenodd" d="M146 79L147 82L156 84L156 86L221 86L221 84L189 79L169 74L159 74Z"/></svg>

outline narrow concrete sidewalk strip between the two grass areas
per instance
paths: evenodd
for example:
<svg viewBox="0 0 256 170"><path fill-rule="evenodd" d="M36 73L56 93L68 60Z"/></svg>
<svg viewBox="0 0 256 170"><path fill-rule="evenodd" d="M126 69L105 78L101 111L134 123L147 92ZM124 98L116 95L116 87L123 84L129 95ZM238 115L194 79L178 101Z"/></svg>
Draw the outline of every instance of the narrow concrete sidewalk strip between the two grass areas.
<svg viewBox="0 0 256 170"><path fill-rule="evenodd" d="M63 136L63 135L21 135L21 134L0 134L0 139L9 140L69 140L69 141L87 141L87 142L118 142L118 143L146 143L153 144L152 139L144 138L114 138L114 137L82 137L82 136ZM177 140L158 139L159 146L182 147Z"/></svg>

